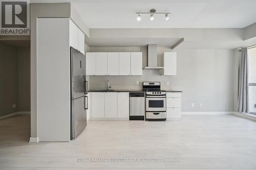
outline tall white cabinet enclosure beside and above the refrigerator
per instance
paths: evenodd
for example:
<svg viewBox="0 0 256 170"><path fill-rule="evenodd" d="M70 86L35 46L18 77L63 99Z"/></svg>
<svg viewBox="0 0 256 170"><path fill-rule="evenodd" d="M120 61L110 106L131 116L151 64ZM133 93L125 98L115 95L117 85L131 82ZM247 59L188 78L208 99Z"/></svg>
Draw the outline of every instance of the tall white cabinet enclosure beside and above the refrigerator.
<svg viewBox="0 0 256 170"><path fill-rule="evenodd" d="M70 46L84 54L70 18L37 18L38 141L70 141Z"/></svg>

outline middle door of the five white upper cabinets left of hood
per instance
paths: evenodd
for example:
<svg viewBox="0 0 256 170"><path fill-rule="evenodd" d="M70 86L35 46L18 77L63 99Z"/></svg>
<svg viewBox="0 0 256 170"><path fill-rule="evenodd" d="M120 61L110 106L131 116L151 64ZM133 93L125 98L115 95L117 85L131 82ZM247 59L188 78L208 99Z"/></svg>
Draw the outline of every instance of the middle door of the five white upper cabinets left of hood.
<svg viewBox="0 0 256 170"><path fill-rule="evenodd" d="M119 75L119 53L108 53L108 75Z"/></svg>

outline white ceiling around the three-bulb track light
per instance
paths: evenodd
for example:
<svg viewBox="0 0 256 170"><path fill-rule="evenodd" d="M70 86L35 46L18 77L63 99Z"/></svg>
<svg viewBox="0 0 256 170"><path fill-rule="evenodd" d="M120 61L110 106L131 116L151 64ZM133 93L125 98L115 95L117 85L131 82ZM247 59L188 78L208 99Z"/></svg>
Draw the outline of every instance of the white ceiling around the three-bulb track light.
<svg viewBox="0 0 256 170"><path fill-rule="evenodd" d="M71 2L90 28L244 28L256 22L256 0L31 0ZM142 15L135 12L170 12Z"/></svg>

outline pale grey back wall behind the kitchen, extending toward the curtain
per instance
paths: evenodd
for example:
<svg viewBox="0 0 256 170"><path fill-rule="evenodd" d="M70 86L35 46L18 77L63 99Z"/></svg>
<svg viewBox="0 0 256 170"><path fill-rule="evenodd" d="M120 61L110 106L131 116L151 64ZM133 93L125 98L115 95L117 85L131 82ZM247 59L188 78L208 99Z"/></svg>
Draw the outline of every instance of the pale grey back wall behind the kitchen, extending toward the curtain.
<svg viewBox="0 0 256 170"><path fill-rule="evenodd" d="M146 47L90 47L90 52L142 51L146 64ZM158 47L158 65L163 52ZM141 89L143 81L160 81L162 89L182 90L182 111L233 111L233 50L177 50L177 76L160 76L158 70L143 70L142 76L90 76L90 89L106 89L110 80L113 89ZM140 84L136 85L136 81ZM166 82L169 82L169 86ZM195 107L191 107L195 103ZM202 103L203 107L199 107Z"/></svg>

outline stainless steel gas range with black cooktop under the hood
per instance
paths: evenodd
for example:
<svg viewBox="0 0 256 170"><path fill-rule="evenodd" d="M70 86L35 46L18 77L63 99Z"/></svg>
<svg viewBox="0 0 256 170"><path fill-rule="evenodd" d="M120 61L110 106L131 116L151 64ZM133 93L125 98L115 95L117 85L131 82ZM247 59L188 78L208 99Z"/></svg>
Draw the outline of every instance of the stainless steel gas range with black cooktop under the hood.
<svg viewBox="0 0 256 170"><path fill-rule="evenodd" d="M145 120L166 120L166 92L160 89L160 82L143 82L145 91Z"/></svg>

